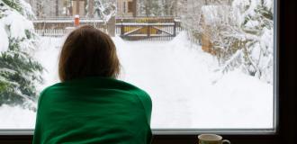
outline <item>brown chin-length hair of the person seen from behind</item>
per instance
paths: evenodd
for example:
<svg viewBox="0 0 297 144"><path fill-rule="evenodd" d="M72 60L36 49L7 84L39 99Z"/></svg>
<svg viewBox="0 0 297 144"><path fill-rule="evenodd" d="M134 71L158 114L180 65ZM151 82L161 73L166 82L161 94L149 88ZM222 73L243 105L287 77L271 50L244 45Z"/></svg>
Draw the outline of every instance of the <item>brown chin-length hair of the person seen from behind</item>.
<svg viewBox="0 0 297 144"><path fill-rule="evenodd" d="M68 35L58 62L62 82L86 76L115 78L119 73L115 45L103 31L85 25Z"/></svg>

